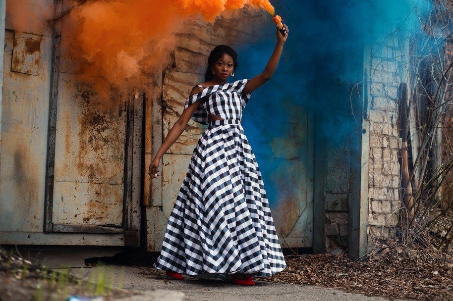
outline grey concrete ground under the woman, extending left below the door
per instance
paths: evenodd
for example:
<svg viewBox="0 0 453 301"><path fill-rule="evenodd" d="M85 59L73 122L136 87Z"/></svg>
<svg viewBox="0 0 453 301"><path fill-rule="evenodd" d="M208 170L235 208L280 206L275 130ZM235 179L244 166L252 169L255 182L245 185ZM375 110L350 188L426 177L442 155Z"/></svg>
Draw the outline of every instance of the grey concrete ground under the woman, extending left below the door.
<svg viewBox="0 0 453 301"><path fill-rule="evenodd" d="M2 246L3 247L3 246ZM139 295L117 301L385 301L380 297L366 297L339 290L268 282L257 282L254 287L241 287L217 280L173 280L160 271L143 274L143 267L151 265L153 255L143 252L121 252L116 248L87 247L19 247L22 257L39 261L49 268L71 267L72 273L90 279L100 270L114 273L115 282L122 278L122 288L140 292ZM118 256L118 253L120 256ZM110 265L87 267L90 260L99 259ZM95 259L96 258L96 259Z"/></svg>

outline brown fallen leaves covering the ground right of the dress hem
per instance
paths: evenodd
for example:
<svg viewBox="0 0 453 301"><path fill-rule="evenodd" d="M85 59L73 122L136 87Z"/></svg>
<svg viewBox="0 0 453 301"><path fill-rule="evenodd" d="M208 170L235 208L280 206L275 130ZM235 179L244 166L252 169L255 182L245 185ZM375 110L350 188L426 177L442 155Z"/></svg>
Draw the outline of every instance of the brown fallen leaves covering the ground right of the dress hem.
<svg viewBox="0 0 453 301"><path fill-rule="evenodd" d="M285 270L260 280L319 285L391 300L453 300L453 261L433 254L388 241L355 261L347 254L290 256Z"/></svg>

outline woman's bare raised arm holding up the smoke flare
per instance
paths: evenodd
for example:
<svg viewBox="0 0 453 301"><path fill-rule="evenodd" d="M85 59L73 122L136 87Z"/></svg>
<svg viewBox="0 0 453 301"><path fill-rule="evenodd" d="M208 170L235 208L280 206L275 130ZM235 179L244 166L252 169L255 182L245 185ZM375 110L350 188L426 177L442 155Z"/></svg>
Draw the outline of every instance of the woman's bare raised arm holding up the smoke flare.
<svg viewBox="0 0 453 301"><path fill-rule="evenodd" d="M280 56L282 55L283 44L284 42L286 42L289 32L286 24L283 24L283 29L285 29L286 34L283 34L282 32L280 32L279 29L277 29L277 44L263 72L261 72L260 74L253 77L247 82L244 89L242 90L242 95L249 94L255 91L256 89L261 87L265 82L267 82L274 74L274 71L277 68L277 64L279 63Z"/></svg>

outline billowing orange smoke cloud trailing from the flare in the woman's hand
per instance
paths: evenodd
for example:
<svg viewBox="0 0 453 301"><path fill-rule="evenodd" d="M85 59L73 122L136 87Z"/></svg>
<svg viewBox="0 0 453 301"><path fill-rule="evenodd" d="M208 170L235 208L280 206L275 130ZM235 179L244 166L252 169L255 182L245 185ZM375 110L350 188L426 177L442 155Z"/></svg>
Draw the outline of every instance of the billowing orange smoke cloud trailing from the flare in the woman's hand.
<svg viewBox="0 0 453 301"><path fill-rule="evenodd" d="M213 22L246 5L274 14L268 0L87 1L63 21L63 48L96 90L130 88L149 81L147 75L166 63L185 20L201 15Z"/></svg>

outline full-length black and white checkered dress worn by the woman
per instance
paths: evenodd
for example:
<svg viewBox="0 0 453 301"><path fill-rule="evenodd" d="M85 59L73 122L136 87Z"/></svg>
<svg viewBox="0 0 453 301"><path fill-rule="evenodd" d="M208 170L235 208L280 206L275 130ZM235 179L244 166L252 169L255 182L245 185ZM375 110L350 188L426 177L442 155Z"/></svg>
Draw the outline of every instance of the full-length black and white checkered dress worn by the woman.
<svg viewBox="0 0 453 301"><path fill-rule="evenodd" d="M185 103L209 124L170 214L156 267L185 275L270 276L285 267L255 155L240 120L246 79L204 88ZM208 112L225 120L208 123Z"/></svg>

